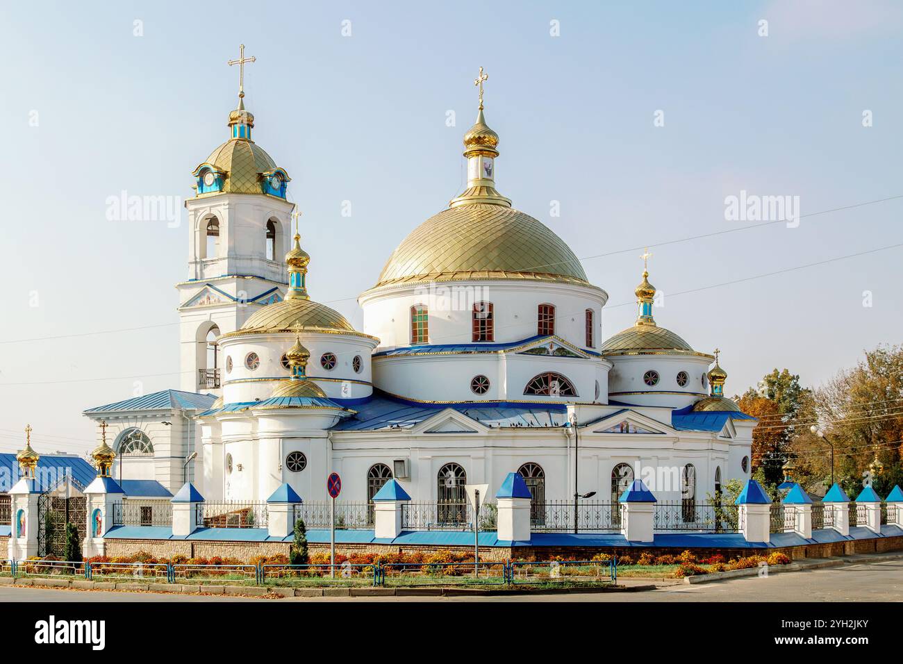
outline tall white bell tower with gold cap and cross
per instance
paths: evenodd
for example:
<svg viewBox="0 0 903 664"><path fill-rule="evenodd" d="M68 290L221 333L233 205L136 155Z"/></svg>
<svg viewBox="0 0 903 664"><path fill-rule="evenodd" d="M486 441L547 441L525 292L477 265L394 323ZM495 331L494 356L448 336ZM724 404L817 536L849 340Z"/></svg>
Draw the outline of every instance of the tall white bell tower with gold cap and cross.
<svg viewBox="0 0 903 664"><path fill-rule="evenodd" d="M188 278L179 291L181 388L220 395L228 378L217 337L234 332L261 306L283 299L294 203L291 178L251 138L245 108L245 45L237 60L238 105L229 113L228 140L194 169L188 210Z"/></svg>

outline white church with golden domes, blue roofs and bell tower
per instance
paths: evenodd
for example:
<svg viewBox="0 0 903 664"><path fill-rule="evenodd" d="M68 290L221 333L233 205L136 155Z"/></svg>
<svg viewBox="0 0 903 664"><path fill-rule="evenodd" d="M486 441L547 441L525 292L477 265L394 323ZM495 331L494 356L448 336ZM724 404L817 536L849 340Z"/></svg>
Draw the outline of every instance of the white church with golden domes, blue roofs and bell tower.
<svg viewBox="0 0 903 664"><path fill-rule="evenodd" d="M539 501L613 501L635 477L659 500L705 500L749 478L756 420L724 396L716 356L656 323L647 270L636 323L603 334L608 294L498 192L480 74L467 188L359 296L362 330L314 299L330 268L292 233L291 178L239 92L186 201L181 389L85 411L107 423L114 478L158 495L191 481L207 500L287 482L325 500L339 472L342 500L394 477L424 502L463 502L465 483L494 494L515 471Z"/></svg>

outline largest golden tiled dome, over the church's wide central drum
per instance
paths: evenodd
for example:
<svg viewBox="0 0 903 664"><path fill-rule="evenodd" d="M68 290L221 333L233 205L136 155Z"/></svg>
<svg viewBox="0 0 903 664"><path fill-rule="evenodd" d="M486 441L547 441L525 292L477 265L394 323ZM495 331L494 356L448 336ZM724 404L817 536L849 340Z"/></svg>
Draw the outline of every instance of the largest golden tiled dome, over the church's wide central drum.
<svg viewBox="0 0 903 664"><path fill-rule="evenodd" d="M460 279L539 279L590 285L580 261L542 222L473 203L442 210L392 252L378 286Z"/></svg>

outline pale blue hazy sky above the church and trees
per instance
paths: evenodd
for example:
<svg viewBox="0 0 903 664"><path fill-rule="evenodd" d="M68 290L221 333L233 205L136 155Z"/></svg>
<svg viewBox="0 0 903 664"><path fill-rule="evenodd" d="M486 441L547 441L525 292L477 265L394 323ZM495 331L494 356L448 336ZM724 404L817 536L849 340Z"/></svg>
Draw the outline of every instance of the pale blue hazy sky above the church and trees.
<svg viewBox="0 0 903 664"><path fill-rule="evenodd" d="M725 220L725 196L741 190L799 196L803 215L903 194L899 5L258 7L0 8L0 450L20 448L31 422L39 451L83 451L81 410L178 386L187 229L108 221L105 201L191 195L191 171L228 136L239 42L257 58L256 141L291 173L304 212L312 296L352 323L392 249L460 192L482 65L498 188L609 292L603 336L633 320L648 244L665 293L656 320L694 348L720 347L730 393L773 367L818 385L900 341L901 248L668 294L899 244L903 199L655 246L747 225Z"/></svg>

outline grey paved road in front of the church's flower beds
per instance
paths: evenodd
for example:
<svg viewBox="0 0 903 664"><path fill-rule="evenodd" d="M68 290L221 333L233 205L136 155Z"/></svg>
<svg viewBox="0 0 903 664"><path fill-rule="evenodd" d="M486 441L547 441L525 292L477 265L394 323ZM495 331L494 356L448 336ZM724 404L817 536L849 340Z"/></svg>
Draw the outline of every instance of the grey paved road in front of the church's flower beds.
<svg viewBox="0 0 903 664"><path fill-rule="evenodd" d="M259 602L225 595L116 593L0 586L0 602ZM903 560L781 572L700 585L669 585L643 593L463 597L293 597L279 602L899 602Z"/></svg>

